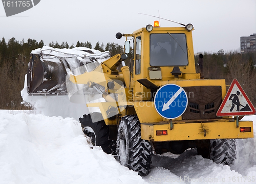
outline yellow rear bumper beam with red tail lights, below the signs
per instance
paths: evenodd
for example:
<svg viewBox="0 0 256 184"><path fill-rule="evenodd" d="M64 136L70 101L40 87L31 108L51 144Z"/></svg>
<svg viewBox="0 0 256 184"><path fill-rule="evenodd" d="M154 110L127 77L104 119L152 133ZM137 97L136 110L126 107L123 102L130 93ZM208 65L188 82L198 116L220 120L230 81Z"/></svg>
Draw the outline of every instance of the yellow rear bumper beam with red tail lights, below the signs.
<svg viewBox="0 0 256 184"><path fill-rule="evenodd" d="M239 127L251 127L251 132L240 133ZM172 130L168 122L159 124L143 123L141 124L141 138L155 142L253 138L252 121L240 121L239 127L237 128L235 121L229 121L228 119L221 119L215 122L203 122L202 120L202 123L177 123L173 124ZM157 130L167 130L168 133L166 136L157 136Z"/></svg>

